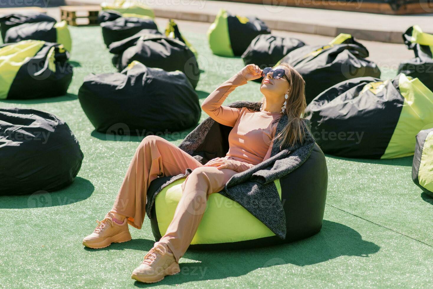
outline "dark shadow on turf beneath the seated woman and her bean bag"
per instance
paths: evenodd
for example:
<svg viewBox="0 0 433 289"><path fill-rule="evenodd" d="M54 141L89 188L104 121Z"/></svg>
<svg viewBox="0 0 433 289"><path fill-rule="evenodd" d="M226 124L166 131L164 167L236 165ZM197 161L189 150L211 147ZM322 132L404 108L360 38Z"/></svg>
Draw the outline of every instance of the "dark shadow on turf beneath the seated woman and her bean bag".
<svg viewBox="0 0 433 289"><path fill-rule="evenodd" d="M153 247L154 242L147 239L132 239L125 243L111 244L110 247L103 249L85 248L85 250L95 252L95 254L101 250L124 249L147 252ZM188 250L184 258L197 260L197 262L181 263L179 274L166 276L158 283L145 284L136 281L134 285L150 287L224 279L242 276L253 270L275 265L306 266L326 262L340 256L368 257L369 254L375 254L379 249L378 245L362 240L362 236L352 228L323 220L323 228L318 234L290 244L245 250Z"/></svg>

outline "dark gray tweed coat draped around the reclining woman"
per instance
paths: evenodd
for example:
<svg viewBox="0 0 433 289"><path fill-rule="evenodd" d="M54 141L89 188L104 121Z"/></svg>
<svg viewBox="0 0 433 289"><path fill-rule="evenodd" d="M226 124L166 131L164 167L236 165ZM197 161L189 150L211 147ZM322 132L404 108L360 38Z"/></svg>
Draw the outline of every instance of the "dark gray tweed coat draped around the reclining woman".
<svg viewBox="0 0 433 289"><path fill-rule="evenodd" d="M229 107L247 107L259 110L261 102L237 101L230 103ZM287 115L283 115L277 125L277 135L287 125ZM310 133L310 121L304 119L305 137L303 144L295 144L289 148L280 148L281 141L275 140L271 156L260 164L248 170L234 174L219 193L238 202L252 215L258 218L272 232L281 239L286 237L286 218L277 187L274 180L291 173L308 157L310 157L315 141ZM221 125L208 117L200 123L179 144L179 148L205 164L214 157L224 157L228 151L228 133L231 127ZM156 195L175 180L186 178L192 172L187 168L185 173L172 177L159 187L149 200L146 212L151 218L151 209Z"/></svg>

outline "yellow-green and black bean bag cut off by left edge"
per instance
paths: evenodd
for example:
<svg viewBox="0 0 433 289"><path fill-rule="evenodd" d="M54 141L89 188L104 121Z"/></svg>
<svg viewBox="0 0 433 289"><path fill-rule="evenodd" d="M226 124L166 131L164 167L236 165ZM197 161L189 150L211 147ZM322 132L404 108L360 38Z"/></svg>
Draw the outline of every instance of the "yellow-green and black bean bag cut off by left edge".
<svg viewBox="0 0 433 289"><path fill-rule="evenodd" d="M0 46L0 100L65 95L72 80L69 53L58 43L24 40Z"/></svg>

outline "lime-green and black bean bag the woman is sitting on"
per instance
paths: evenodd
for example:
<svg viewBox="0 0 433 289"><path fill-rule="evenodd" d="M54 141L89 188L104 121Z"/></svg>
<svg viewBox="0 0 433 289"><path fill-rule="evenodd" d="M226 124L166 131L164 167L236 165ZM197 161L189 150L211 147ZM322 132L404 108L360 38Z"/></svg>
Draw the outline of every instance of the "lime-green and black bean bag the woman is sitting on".
<svg viewBox="0 0 433 289"><path fill-rule="evenodd" d="M217 148L229 132L229 127L217 125L208 148ZM220 133L218 133L220 132ZM211 144L210 142L214 142ZM223 145L224 147L224 145ZM200 152L197 152L200 154ZM206 151L206 154L211 154ZM164 183L175 176L158 177L150 183L148 200ZM155 241L158 241L168 228L179 199L181 184L185 178L175 180L165 186L155 197L154 204L146 204L151 212L150 224ZM308 238L320 231L326 201L328 173L323 152L315 145L310 157L300 167L288 175L275 180L286 215L287 234L283 240L266 225L235 202L220 193L213 193L207 201L207 209L190 248L204 250L226 250L253 248L283 244ZM150 207L151 206L151 207Z"/></svg>

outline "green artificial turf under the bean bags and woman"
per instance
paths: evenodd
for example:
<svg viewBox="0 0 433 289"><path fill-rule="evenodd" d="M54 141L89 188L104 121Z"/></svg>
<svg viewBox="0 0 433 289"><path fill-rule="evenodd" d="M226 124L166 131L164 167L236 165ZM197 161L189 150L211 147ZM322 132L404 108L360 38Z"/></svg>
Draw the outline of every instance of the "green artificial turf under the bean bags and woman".
<svg viewBox="0 0 433 289"><path fill-rule="evenodd" d="M75 66L68 95L1 106L31 107L65 120L84 161L74 183L45 196L0 196L0 287L133 288L174 286L330 288L424 287L433 282L433 200L411 180L412 157L357 160L327 156L329 185L323 228L291 244L238 251L187 251L181 273L145 285L130 278L152 247L149 220L130 227L132 241L91 250L82 239L111 208L142 139L94 132L77 99L84 76L114 72L99 27L71 27ZM205 34L184 32L203 70L200 102L242 67L212 55ZM238 87L225 103L259 101L259 83ZM162 104L163 105L163 104ZM202 114L200 121L207 117ZM178 145L184 135L163 136ZM67 153L67 152L65 152ZM13 161L13 160L1 160Z"/></svg>

